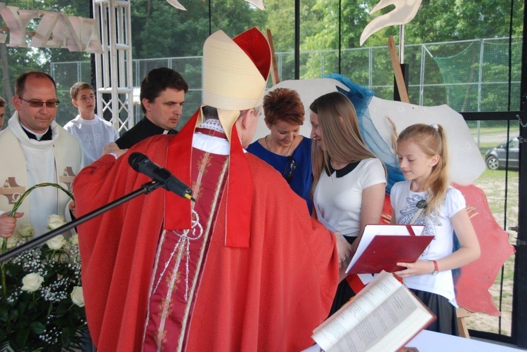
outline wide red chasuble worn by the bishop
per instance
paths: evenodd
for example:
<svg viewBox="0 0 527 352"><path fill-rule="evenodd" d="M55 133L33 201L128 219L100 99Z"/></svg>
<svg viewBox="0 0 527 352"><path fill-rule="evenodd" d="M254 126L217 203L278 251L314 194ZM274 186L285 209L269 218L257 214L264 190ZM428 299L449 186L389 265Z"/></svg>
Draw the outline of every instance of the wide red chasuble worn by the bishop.
<svg viewBox="0 0 527 352"><path fill-rule="evenodd" d="M164 167L171 138L155 136L129 152L143 152ZM150 181L129 167L129 152L117 161L101 157L75 178L79 216ZM194 149L194 154L207 153ZM158 282L157 289L173 289L171 297L180 304L165 332L178 337L178 349L300 351L313 344L313 329L327 317L337 287L334 235L311 219L304 200L277 171L254 155L245 156L254 182L249 247L225 246L225 221L220 221L226 215L224 185L216 188L214 199L206 200L198 191L193 206L197 214L207 216L202 212L207 207L198 210L202 203L215 203L217 214L208 215L208 235L194 247L199 249L189 250L188 266L185 251L179 253L180 270L172 283L167 282L172 264L163 283L159 278L182 233L162 230L164 190L137 197L79 227L86 315L98 352L141 351L143 343L151 345L154 339L149 342L147 332L145 340L145 324L147 317L161 313L155 311L160 296L150 296ZM193 158L193 187L214 179L197 172L198 164Z"/></svg>

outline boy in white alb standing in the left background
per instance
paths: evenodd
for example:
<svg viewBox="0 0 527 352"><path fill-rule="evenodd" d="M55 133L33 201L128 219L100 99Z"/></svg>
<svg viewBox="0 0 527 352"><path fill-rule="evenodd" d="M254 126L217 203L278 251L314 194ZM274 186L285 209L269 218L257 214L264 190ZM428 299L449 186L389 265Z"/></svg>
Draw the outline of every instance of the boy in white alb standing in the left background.
<svg viewBox="0 0 527 352"><path fill-rule="evenodd" d="M105 119L95 115L95 91L90 84L77 82L70 89L72 104L79 115L65 124L64 129L81 141L86 161L91 164L103 154L105 145L117 141L119 133Z"/></svg>

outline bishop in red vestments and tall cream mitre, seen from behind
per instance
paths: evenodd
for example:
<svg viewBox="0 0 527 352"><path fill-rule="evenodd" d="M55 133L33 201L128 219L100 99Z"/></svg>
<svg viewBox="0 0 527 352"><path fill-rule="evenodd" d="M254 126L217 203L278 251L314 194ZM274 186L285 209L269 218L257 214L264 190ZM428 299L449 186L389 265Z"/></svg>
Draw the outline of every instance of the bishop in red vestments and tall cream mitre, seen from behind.
<svg viewBox="0 0 527 352"><path fill-rule="evenodd" d="M214 50L204 50L204 66L233 44L243 49L235 56L256 62L246 46L261 46L263 36L254 29L234 41L221 31L209 39ZM254 100L216 100L226 93L204 82L212 92L204 103L219 107L218 117L200 110L176 136L148 138L117 159L105 155L75 179L77 214L86 214L149 181L128 165L130 152L142 152L192 185L196 199L155 190L79 226L86 316L98 351L300 351L313 344L339 280L336 237L311 219L277 171L241 148L256 129L269 60L254 64L261 92L250 92L249 79L240 89ZM233 67L242 78L233 82L243 85L240 65Z"/></svg>

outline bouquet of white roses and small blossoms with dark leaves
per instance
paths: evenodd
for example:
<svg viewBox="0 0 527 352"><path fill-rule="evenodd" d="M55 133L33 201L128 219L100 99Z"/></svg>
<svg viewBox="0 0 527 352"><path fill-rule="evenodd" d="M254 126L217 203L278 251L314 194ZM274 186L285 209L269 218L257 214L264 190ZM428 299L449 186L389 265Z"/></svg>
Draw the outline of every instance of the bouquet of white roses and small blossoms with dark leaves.
<svg viewBox="0 0 527 352"><path fill-rule="evenodd" d="M48 216L50 230L65 223L63 216ZM1 251L27 242L30 224L0 240ZM0 264L0 351L72 351L86 334L86 313L81 287L81 261L77 235L53 237Z"/></svg>

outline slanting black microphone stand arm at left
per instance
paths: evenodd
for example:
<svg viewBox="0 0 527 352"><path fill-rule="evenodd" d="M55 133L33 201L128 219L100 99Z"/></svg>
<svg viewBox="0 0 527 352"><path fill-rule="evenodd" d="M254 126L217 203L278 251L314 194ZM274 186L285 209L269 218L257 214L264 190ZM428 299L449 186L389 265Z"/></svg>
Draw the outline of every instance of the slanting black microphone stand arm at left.
<svg viewBox="0 0 527 352"><path fill-rule="evenodd" d="M46 242L47 240L50 240L56 235L65 233L67 230L71 230L72 228L77 227L80 224L85 223L86 221L91 220L94 217L100 214L103 214L112 208L117 207L118 205L128 202L129 200L134 199L138 195L142 195L143 193L148 194L152 192L152 190L155 190L156 188L159 188L162 185L164 185L164 183L161 183L159 181L150 181L148 183L144 183L143 185L141 185L141 188L138 188L137 190L134 190L133 192L127 195L124 195L123 197L120 197L117 200L114 200L113 202L103 205L103 207L95 209L89 212L88 214L84 214L83 216L75 220L72 220L69 223L65 223L63 226L60 226L60 228L56 228L55 230L51 230L47 233L44 233L44 235L34 238L33 240L30 240L24 243L23 245L20 245L18 247L13 247L13 249L9 250L8 252L4 254L0 254L0 263L3 263L4 261L8 261L9 259L13 257L18 256L18 254L26 252L34 247L42 245L44 242Z"/></svg>

